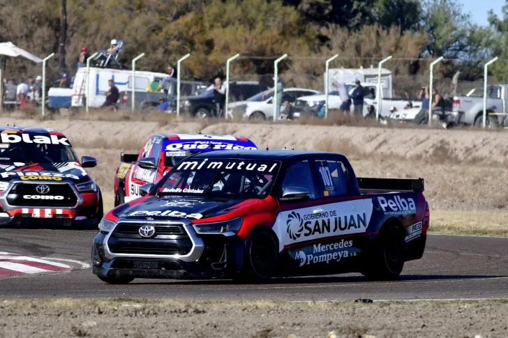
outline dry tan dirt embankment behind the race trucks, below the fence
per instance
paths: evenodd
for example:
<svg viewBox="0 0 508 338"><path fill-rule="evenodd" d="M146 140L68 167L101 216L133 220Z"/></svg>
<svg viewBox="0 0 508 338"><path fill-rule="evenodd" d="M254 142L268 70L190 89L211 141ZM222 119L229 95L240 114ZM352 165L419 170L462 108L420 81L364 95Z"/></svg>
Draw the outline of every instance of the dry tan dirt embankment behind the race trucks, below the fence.
<svg viewBox="0 0 508 338"><path fill-rule="evenodd" d="M260 148L344 153L358 176L423 177L434 210L508 210L508 133L503 131L0 118L0 124L7 123L63 132L79 155L98 158L98 167L90 172L110 199L121 151L137 153L156 133L207 132L248 137Z"/></svg>

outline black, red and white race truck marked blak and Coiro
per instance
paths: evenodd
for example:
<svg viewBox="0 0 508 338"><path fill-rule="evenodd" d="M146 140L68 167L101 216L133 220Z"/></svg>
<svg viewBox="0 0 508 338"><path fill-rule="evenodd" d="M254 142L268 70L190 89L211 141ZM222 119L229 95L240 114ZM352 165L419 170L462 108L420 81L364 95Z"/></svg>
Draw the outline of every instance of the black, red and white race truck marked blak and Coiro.
<svg viewBox="0 0 508 338"><path fill-rule="evenodd" d="M68 139L52 129L0 126L0 224L96 226L100 190Z"/></svg>

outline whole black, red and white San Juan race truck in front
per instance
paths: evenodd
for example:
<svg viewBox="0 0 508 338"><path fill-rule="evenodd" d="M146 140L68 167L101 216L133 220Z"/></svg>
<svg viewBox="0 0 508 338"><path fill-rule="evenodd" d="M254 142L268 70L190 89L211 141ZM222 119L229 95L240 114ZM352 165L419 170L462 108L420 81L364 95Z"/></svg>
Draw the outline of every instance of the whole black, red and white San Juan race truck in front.
<svg viewBox="0 0 508 338"><path fill-rule="evenodd" d="M395 279L424 254L429 226L422 178L357 178L336 153L200 153L140 191L99 224L92 263L105 282Z"/></svg>

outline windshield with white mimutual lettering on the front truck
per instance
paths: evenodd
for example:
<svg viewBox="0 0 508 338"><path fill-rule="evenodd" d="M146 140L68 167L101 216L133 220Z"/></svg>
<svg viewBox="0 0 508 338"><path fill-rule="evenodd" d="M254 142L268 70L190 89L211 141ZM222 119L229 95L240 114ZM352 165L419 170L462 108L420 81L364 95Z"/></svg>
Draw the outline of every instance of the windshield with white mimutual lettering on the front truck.
<svg viewBox="0 0 508 338"><path fill-rule="evenodd" d="M280 167L279 161L191 158L173 167L155 191L163 195L260 199L270 193Z"/></svg>

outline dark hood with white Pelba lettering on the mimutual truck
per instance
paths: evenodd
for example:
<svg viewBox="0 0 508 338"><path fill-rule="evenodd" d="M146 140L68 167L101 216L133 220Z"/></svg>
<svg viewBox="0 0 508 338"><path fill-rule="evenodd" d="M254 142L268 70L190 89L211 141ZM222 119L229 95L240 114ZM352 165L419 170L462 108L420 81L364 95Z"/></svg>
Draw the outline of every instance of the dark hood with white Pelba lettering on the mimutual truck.
<svg viewBox="0 0 508 338"><path fill-rule="evenodd" d="M201 220L229 213L245 199L207 199L195 197L149 197L139 203L126 203L112 215L132 220ZM132 203L131 203L132 204Z"/></svg>

